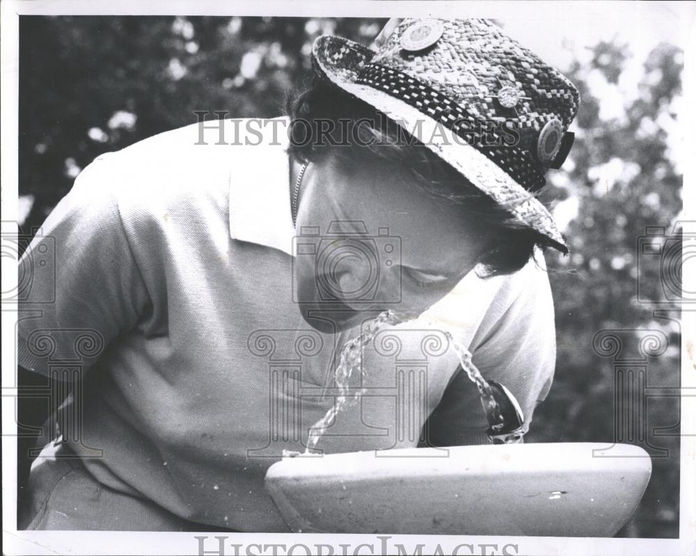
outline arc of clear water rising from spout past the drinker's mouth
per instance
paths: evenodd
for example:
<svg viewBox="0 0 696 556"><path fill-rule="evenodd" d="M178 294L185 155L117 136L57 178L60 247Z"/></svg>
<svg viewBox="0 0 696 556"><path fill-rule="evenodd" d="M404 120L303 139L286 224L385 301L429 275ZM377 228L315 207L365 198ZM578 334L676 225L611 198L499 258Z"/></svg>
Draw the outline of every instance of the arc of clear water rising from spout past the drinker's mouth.
<svg viewBox="0 0 696 556"><path fill-rule="evenodd" d="M333 406L329 408L329 411L326 411L324 417L319 419L310 428L310 434L307 440L304 455L311 455L314 453L313 450L317 446L319 438L321 438L326 432L326 429L329 428L329 425L331 422L333 422L336 415L338 415L340 411L343 411L348 406L355 404L365 393L365 388L356 390L352 393L352 395L349 390L349 381L356 369L361 369L364 383L366 372L362 368L363 348L372 342L383 326L394 326L396 324L415 319L419 316L420 314L417 312L394 312L392 310L383 311L374 319L367 321L363 326L363 331L357 337L354 337L344 344L341 350L338 367L336 367L334 372L335 385L339 392L338 396L335 397ZM437 324L436 321L432 321L432 319L427 319L425 323L429 326L435 326ZM500 414L498 402L496 402L496 399L493 397L493 390L486 379L483 378L481 372L472 363L470 351L466 348L466 346L464 346L464 344L459 342L459 340L456 340L452 336L452 333L449 331L443 331L443 333L450 341L450 345L452 346L452 349L454 349L454 353L457 354L461 368L464 369L468 378L477 386L481 395L484 410L486 410L487 413L496 415L496 418L502 422L503 415ZM283 452L283 455L295 456L299 455L299 452Z"/></svg>

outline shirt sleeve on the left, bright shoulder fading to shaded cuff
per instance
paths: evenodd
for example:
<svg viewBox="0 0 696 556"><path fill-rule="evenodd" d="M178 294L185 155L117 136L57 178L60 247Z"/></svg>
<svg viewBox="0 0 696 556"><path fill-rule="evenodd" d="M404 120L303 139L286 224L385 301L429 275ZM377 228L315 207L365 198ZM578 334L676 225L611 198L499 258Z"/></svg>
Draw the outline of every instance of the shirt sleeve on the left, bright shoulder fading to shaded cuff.
<svg viewBox="0 0 696 556"><path fill-rule="evenodd" d="M104 158L80 173L19 261L17 363L28 370L89 370L148 303Z"/></svg>

